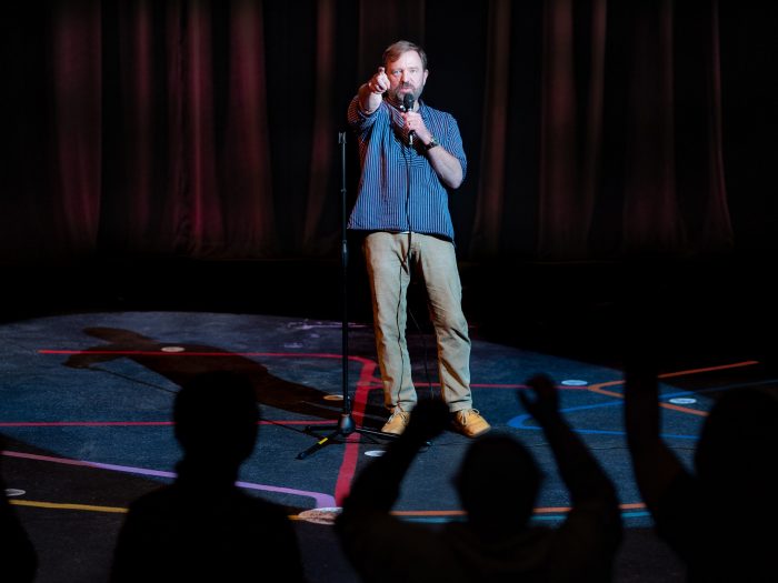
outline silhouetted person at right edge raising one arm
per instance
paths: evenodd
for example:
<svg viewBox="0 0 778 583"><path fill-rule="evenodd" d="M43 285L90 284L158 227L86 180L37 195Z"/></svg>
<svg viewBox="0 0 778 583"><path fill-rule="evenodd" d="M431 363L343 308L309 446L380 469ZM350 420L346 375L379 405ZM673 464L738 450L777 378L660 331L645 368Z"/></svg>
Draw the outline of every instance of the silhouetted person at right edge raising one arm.
<svg viewBox="0 0 778 583"><path fill-rule="evenodd" d="M657 363L625 360L625 422L635 479L656 532L687 581L778 581L778 400L728 390L705 420L694 472L660 436Z"/></svg>

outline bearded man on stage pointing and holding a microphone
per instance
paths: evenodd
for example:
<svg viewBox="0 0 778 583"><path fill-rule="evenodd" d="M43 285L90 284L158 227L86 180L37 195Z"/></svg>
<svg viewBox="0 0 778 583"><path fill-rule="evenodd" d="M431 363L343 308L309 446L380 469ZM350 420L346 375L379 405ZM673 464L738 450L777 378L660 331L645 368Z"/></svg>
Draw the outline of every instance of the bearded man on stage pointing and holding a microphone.
<svg viewBox="0 0 778 583"><path fill-rule="evenodd" d="M402 433L417 403L406 343L412 273L427 289L442 399L455 428L475 438L490 426L472 408L470 339L448 209L448 192L462 183L467 159L453 117L419 100L428 74L419 46L395 42L351 101L348 121L362 173L348 228L366 233L362 249L390 411L382 431Z"/></svg>

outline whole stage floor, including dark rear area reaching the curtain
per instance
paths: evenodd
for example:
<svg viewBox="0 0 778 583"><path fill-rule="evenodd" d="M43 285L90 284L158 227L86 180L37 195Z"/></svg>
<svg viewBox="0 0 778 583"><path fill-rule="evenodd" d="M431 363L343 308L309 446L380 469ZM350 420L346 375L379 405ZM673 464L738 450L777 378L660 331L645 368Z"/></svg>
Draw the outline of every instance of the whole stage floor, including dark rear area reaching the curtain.
<svg viewBox="0 0 778 583"><path fill-rule="evenodd" d="M10 500L40 559L37 581L106 580L128 504L171 480L180 455L170 423L178 386L225 368L251 376L263 416L242 487L288 509L311 582L356 581L329 522L387 442L352 433L298 459L330 433L343 408L338 265L103 265L22 275L6 289L0 320L0 433ZM546 481L533 520L553 524L565 516L567 492L516 394L529 375L550 374L565 416L618 489L626 535L617 581L680 582L682 565L651 532L632 480L619 305L637 299L662 308L662 432L689 462L718 395L745 384L778 386L771 346L761 340L776 321L769 278L754 263L627 275L609 265L463 267L475 405L495 431L536 455ZM356 268L351 277L347 390L358 425L379 429L386 412L363 273ZM437 393L436 349L419 299L412 285L413 375L421 393ZM419 455L395 509L405 520L431 527L461 520L450 479L469 443L445 432Z"/></svg>

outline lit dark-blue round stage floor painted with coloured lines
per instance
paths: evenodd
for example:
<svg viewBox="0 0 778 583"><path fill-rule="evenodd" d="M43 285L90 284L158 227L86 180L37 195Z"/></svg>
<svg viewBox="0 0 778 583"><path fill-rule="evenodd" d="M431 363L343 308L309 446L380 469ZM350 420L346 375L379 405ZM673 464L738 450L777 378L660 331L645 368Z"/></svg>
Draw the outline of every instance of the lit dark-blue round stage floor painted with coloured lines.
<svg viewBox="0 0 778 583"><path fill-rule="evenodd" d="M348 331L348 391L360 426L385 412L366 323ZM517 400L535 372L559 385L565 416L615 481L627 536L619 581L681 581L682 569L650 532L622 432L618 368L479 338L473 328L475 404L495 431L521 439L547 478L533 520L561 520L569 504L542 433ZM40 556L38 581L103 581L128 503L171 480L180 450L172 399L187 376L241 370L257 390L262 424L241 485L286 505L312 582L356 581L328 521L353 476L387 442L352 433L305 460L342 412L342 326L332 320L213 312L129 311L48 315L0 325L0 432L10 500ZM410 332L420 392L436 393L432 338ZM775 385L756 360L719 359L665 371L664 433L685 460L705 412L722 391ZM319 431L317 431L319 430ZM450 479L469 440L446 432L420 454L396 505L406 520L461 520Z"/></svg>

